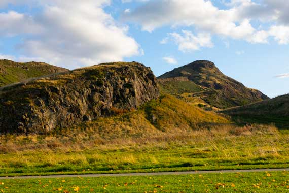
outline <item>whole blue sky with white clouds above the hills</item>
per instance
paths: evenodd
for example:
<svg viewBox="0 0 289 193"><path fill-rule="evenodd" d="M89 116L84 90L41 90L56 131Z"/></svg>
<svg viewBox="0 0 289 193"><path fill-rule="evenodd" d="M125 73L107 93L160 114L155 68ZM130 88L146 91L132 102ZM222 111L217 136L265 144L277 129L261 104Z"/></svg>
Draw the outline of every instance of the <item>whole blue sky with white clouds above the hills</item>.
<svg viewBox="0 0 289 193"><path fill-rule="evenodd" d="M289 93L288 0L0 0L0 59L68 69L138 61L156 76L210 60Z"/></svg>

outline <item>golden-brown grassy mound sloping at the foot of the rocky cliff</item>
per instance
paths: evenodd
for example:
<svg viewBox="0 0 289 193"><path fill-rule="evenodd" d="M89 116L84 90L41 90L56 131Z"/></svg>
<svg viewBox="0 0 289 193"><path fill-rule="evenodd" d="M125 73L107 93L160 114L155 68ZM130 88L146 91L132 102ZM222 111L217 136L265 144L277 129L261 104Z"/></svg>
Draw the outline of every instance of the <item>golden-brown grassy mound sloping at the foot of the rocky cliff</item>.
<svg viewBox="0 0 289 193"><path fill-rule="evenodd" d="M188 105L171 95L162 95L145 103L136 111L101 117L67 129L97 133L100 140L142 137L154 139L157 136L182 136L186 132L227 124L230 124L230 121L223 116ZM71 131L64 129L62 132Z"/></svg>

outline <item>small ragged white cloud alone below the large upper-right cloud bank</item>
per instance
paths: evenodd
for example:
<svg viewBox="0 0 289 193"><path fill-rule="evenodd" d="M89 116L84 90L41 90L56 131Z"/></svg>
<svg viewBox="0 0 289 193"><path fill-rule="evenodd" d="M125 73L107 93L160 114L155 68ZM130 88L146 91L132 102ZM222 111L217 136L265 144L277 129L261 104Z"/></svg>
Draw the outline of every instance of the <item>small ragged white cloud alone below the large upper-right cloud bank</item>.
<svg viewBox="0 0 289 193"><path fill-rule="evenodd" d="M211 36L207 33L199 33L195 36L191 31L183 30L183 36L178 33L169 33L167 38L164 38L161 43L165 44L169 40L178 45L178 49L182 52L199 50L200 47L213 47Z"/></svg>

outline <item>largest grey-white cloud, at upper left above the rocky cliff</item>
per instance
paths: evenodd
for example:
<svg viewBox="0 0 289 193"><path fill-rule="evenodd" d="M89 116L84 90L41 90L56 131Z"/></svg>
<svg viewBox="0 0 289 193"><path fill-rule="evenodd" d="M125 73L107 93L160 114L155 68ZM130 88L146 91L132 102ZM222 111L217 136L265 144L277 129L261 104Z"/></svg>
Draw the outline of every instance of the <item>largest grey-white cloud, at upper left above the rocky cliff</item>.
<svg viewBox="0 0 289 193"><path fill-rule="evenodd" d="M46 62L73 69L141 54L137 42L127 35L128 27L119 25L104 12L109 0L37 3L43 8L38 15L9 12L0 16L0 23L4 24L0 33L30 35L18 45L26 57L44 58Z"/></svg>

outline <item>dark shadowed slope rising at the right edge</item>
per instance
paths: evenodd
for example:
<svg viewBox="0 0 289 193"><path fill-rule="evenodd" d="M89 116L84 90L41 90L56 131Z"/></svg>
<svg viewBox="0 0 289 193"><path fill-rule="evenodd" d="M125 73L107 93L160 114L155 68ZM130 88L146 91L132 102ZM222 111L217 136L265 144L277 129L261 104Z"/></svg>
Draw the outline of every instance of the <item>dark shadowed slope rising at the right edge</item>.
<svg viewBox="0 0 289 193"><path fill-rule="evenodd" d="M289 128L289 94L221 111L241 123L274 123Z"/></svg>

